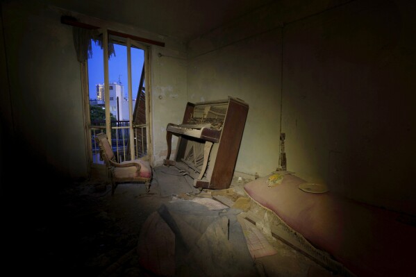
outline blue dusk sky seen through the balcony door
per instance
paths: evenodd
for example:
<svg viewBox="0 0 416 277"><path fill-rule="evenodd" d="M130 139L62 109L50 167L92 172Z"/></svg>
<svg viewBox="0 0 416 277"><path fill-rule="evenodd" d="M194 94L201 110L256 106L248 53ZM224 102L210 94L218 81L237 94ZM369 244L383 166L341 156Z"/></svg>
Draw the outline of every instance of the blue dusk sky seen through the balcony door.
<svg viewBox="0 0 416 277"><path fill-rule="evenodd" d="M127 83L127 47L114 44L115 56L108 60L108 74L110 83L120 81L124 85L124 92L128 92ZM133 84L133 99L138 92L140 75L144 62L144 51L142 49L131 48L131 82ZM95 85L104 83L103 49L92 42L92 58L88 59L88 78L90 87L90 99L96 99Z"/></svg>

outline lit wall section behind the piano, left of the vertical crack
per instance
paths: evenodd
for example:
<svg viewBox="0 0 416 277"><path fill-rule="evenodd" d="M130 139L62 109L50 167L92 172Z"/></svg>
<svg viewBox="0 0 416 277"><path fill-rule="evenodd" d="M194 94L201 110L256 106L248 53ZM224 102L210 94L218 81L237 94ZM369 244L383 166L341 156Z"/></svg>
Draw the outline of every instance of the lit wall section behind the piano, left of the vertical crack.
<svg viewBox="0 0 416 277"><path fill-rule="evenodd" d="M277 29L190 59L190 102L234 96L249 104L236 171L265 175L278 166L280 42Z"/></svg>

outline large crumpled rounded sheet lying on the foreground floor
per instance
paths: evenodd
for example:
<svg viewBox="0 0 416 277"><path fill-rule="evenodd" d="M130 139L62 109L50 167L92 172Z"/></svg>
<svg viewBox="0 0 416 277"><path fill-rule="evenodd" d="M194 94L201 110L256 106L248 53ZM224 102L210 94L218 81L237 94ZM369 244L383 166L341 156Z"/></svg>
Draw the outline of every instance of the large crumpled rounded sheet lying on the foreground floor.
<svg viewBox="0 0 416 277"><path fill-rule="evenodd" d="M237 220L240 210L226 208L180 199L161 205L140 233L142 267L165 276L258 276Z"/></svg>

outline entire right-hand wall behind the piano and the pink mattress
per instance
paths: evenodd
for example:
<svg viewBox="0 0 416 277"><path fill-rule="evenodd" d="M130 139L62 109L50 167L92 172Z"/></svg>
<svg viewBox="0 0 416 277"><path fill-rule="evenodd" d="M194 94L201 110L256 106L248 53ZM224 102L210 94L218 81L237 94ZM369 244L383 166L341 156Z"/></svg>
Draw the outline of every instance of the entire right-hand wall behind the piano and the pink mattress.
<svg viewBox="0 0 416 277"><path fill-rule="evenodd" d="M188 101L249 103L235 171L276 169L282 128L297 176L415 214L414 10L412 1L273 3L190 42Z"/></svg>

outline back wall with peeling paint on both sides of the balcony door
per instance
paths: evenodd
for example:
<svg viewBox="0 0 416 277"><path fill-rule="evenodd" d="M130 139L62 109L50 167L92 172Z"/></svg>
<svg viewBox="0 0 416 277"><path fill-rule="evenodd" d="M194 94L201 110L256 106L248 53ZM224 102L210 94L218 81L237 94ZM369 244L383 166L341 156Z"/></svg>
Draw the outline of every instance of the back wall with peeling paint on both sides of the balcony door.
<svg viewBox="0 0 416 277"><path fill-rule="evenodd" d="M60 23L62 15L165 42L165 47L149 47L151 76L147 89L151 91L153 165L166 158L165 128L169 122L182 119L187 101L182 42L37 2L16 0L1 5L6 37L6 41L1 37L1 45L6 49L8 62L8 70L2 67L1 80L10 78L10 99L7 82L3 87L2 121L7 123L4 130L15 128L13 138L19 149L18 154L13 153L16 158L35 158L39 165L50 165L69 177L88 175L80 65L74 51L72 26ZM172 146L176 148L176 141Z"/></svg>

